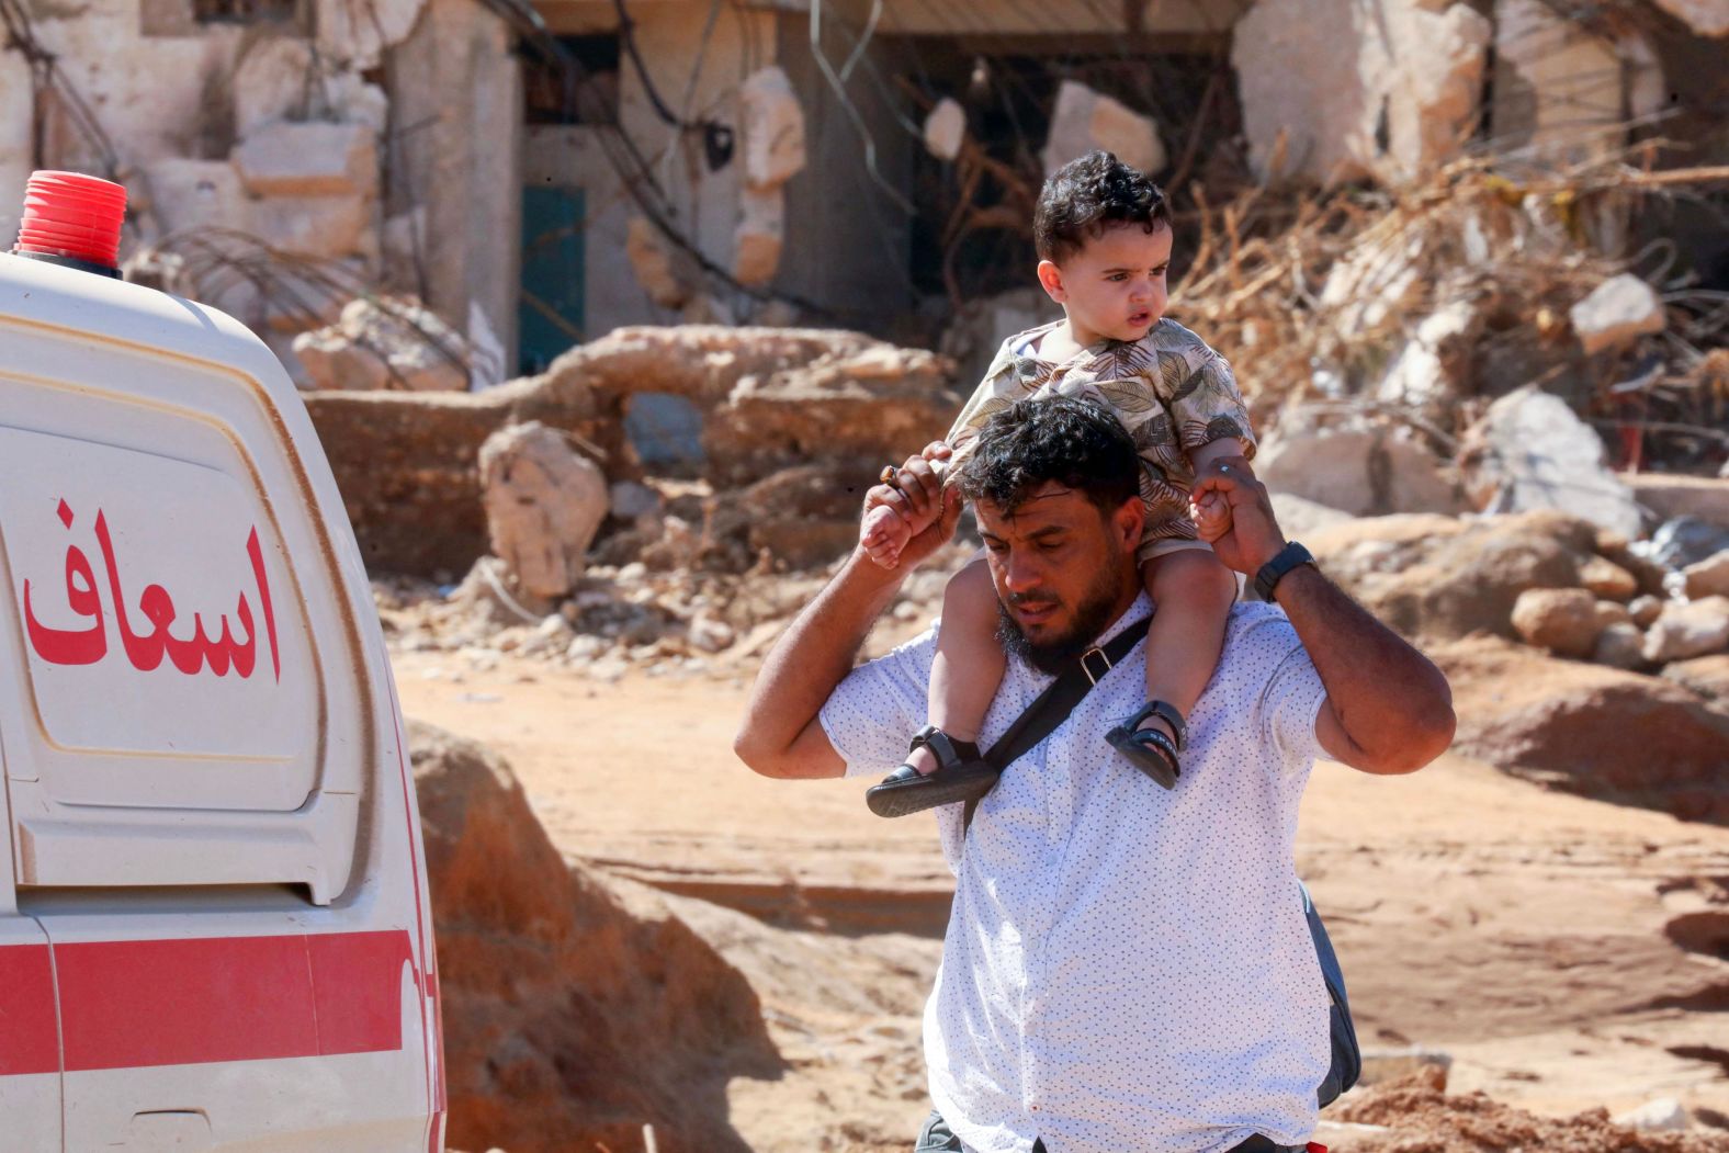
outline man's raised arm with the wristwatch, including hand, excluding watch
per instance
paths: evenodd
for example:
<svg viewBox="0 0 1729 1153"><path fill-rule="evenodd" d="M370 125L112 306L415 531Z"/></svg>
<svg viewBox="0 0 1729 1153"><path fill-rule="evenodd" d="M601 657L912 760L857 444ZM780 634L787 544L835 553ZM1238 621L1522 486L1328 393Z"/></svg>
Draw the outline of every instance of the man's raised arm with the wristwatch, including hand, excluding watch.
<svg viewBox="0 0 1729 1153"><path fill-rule="evenodd" d="M1231 531L1214 551L1250 579L1285 548L1267 489L1241 456L1200 470L1195 494L1231 503ZM1414 773L1452 743L1452 690L1433 662L1350 600L1319 569L1285 574L1273 598L1314 660L1326 705L1316 736L1326 754L1364 773Z"/></svg>

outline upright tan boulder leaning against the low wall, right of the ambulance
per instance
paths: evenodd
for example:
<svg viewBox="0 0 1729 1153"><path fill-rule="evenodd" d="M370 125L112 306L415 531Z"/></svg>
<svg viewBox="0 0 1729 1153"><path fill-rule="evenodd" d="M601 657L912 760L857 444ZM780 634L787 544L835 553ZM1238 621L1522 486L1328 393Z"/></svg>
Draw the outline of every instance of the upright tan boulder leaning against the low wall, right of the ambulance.
<svg viewBox="0 0 1729 1153"><path fill-rule="evenodd" d="M605 474L538 420L486 437L479 467L493 553L512 586L541 600L569 595L607 515Z"/></svg>

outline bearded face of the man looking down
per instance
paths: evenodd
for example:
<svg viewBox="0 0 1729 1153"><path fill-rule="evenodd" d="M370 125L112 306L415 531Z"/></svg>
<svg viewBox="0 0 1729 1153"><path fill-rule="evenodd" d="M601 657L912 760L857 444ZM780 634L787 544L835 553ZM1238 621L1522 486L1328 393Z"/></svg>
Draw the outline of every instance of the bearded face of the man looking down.
<svg viewBox="0 0 1729 1153"><path fill-rule="evenodd" d="M1141 501L1101 513L1084 494L1046 482L1011 513L979 501L1003 643L1046 672L1086 652L1139 589L1134 546Z"/></svg>

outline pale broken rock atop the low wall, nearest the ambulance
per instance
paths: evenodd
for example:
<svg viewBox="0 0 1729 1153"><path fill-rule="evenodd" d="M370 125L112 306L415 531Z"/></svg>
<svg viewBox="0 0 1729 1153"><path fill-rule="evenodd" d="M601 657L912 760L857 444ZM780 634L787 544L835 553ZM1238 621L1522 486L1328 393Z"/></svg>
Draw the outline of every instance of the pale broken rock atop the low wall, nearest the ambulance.
<svg viewBox="0 0 1729 1153"><path fill-rule="evenodd" d="M467 342L432 311L403 299L349 301L337 323L294 337L294 354L315 389L469 387Z"/></svg>

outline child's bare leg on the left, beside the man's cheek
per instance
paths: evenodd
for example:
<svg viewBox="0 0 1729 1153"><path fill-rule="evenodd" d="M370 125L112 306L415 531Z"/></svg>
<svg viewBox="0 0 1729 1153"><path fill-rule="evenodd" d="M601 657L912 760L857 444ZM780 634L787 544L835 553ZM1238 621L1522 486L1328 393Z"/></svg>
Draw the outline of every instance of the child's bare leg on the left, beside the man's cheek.
<svg viewBox="0 0 1729 1153"><path fill-rule="evenodd" d="M954 574L942 593L942 629L930 662L930 724L954 740L979 740L984 714L1003 681L1008 657L996 640L996 588L991 569L973 560ZM906 761L920 773L937 768L928 748Z"/></svg>

